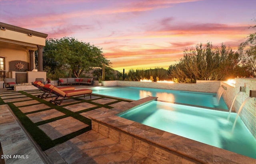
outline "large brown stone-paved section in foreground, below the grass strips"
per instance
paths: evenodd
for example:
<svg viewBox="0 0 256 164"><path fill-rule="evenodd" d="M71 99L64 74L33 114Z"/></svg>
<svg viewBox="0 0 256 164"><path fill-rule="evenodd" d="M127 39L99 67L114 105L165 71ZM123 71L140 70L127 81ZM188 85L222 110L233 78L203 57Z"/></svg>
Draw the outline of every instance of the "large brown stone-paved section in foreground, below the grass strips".
<svg viewBox="0 0 256 164"><path fill-rule="evenodd" d="M46 150L45 153L54 163L64 161L69 164L156 163L93 130L54 146Z"/></svg>

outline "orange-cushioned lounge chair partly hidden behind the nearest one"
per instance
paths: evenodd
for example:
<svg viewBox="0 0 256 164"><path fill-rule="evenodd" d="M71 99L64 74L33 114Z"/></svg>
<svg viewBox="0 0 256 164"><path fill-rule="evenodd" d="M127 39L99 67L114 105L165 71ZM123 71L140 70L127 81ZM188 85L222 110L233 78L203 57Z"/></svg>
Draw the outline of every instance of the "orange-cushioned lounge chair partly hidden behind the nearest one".
<svg viewBox="0 0 256 164"><path fill-rule="evenodd" d="M35 86L36 88L38 88L39 90L43 91L42 95L37 96L38 98L47 98L49 95L52 94L52 90L50 90L49 88L44 87L45 85L50 85L50 84L42 84L42 82L39 81L35 81L31 83L33 86ZM59 88L62 91L67 91L67 90L75 90L74 87L60 87Z"/></svg>

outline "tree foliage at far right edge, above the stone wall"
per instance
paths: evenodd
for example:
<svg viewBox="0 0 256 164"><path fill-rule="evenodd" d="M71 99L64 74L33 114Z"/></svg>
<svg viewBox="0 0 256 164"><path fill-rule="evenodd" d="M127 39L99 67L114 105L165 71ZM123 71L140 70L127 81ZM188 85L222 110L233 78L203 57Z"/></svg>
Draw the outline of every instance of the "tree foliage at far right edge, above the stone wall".
<svg viewBox="0 0 256 164"><path fill-rule="evenodd" d="M256 19L254 19L256 22ZM250 26L256 29L256 25ZM245 76L256 77L256 32L250 34L247 40L242 42L238 47L241 59L241 67L243 72L247 72Z"/></svg>

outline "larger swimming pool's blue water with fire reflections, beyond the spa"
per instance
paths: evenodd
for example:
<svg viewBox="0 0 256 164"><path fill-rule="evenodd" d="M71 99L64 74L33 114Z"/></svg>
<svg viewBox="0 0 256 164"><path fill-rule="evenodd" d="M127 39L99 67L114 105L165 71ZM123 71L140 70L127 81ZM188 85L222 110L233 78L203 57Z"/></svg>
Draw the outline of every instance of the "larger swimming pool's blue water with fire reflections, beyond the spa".
<svg viewBox="0 0 256 164"><path fill-rule="evenodd" d="M217 109L228 109L222 98L220 99L219 105L215 106L213 104L212 98L215 97L216 94L212 93L124 86L94 87L92 88L92 91L94 94L101 94L130 100L139 100L145 98L146 96L154 96L158 97L158 100L165 102L175 102Z"/></svg>

